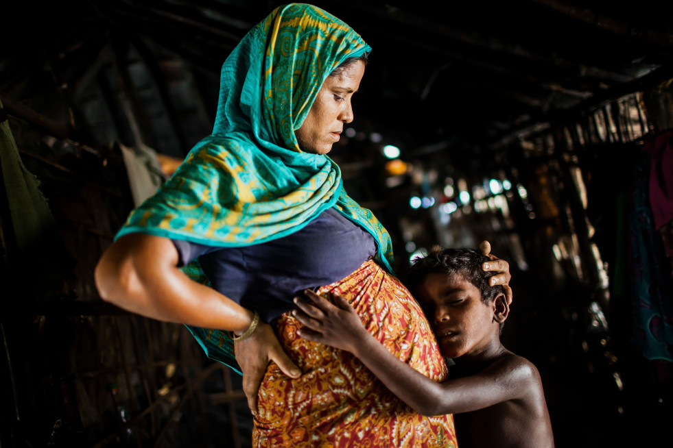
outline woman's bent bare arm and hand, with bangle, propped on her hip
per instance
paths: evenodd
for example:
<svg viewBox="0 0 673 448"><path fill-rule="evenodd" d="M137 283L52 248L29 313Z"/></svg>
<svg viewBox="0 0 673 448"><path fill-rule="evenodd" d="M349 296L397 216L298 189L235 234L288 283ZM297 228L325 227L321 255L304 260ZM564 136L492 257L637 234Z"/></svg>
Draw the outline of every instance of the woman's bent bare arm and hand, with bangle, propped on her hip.
<svg viewBox="0 0 673 448"><path fill-rule="evenodd" d="M95 269L102 299L143 316L242 334L254 313L213 288L194 282L177 267L178 251L168 238L147 234L121 236ZM257 413L257 390L270 361L298 377L273 329L261 323L250 338L235 343L248 406Z"/></svg>

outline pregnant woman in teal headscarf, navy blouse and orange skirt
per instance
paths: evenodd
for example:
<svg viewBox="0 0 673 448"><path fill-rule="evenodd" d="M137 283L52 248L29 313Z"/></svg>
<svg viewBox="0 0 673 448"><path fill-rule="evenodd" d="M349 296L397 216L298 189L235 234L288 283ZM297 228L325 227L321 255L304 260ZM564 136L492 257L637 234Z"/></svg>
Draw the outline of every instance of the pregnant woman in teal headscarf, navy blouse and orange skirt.
<svg viewBox="0 0 673 448"><path fill-rule="evenodd" d="M388 233L325 155L353 121L369 51L323 10L276 8L224 63L213 134L132 212L96 269L105 300L185 323L209 357L240 364L255 446L456 445L451 416L413 412L348 353L296 336L288 313L305 288L333 291L399 358L438 381L447 373L391 275ZM493 269L503 283L506 268Z"/></svg>

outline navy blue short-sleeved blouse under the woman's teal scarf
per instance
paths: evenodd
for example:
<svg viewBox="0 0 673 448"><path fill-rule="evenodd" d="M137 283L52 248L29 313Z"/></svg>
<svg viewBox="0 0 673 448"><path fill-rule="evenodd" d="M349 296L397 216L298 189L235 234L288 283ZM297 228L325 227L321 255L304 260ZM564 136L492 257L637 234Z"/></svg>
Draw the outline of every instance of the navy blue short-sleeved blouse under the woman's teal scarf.
<svg viewBox="0 0 673 448"><path fill-rule="evenodd" d="M173 240L180 266L199 258L211 286L271 322L292 310L301 291L350 275L376 253L374 238L333 208L303 229L246 247Z"/></svg>

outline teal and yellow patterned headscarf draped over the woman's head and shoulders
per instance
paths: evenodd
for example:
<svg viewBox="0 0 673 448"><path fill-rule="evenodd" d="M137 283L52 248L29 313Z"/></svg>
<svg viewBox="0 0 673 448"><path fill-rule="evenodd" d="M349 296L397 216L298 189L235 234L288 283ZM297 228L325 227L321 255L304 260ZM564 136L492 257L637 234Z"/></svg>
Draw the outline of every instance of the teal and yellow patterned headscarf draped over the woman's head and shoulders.
<svg viewBox="0 0 673 448"><path fill-rule="evenodd" d="M328 12L301 3L276 8L224 62L213 134L130 214L117 238L144 232L240 247L296 232L333 207L375 238L377 261L392 272L386 229L346 195L339 166L302 151L294 134L333 69L370 50ZM198 262L185 272L207 282ZM222 332L189 328L202 345L228 347Z"/></svg>

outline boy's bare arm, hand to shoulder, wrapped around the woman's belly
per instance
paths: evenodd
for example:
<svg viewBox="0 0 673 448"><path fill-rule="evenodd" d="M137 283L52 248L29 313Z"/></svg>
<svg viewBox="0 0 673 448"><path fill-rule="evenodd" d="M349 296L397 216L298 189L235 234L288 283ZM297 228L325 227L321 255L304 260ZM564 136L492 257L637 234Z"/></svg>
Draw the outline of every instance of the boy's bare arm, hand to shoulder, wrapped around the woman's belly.
<svg viewBox="0 0 673 448"><path fill-rule="evenodd" d="M350 351L399 399L423 415L457 414L521 398L536 369L523 358L506 356L469 377L438 383L395 358L363 327L359 316L340 296L334 304L306 291L295 300L294 316L305 325L300 336Z"/></svg>

